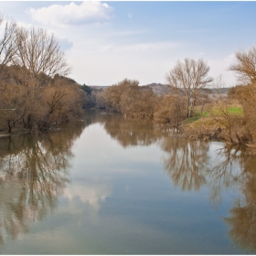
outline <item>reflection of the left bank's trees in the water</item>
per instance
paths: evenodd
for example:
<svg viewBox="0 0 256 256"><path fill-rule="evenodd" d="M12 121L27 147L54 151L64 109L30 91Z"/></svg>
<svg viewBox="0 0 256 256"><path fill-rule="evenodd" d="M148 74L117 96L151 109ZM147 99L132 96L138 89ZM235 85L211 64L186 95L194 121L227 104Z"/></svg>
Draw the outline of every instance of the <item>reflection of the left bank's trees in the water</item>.
<svg viewBox="0 0 256 256"><path fill-rule="evenodd" d="M71 145L83 128L80 123L59 133L1 138L0 246L56 208L69 183Z"/></svg>

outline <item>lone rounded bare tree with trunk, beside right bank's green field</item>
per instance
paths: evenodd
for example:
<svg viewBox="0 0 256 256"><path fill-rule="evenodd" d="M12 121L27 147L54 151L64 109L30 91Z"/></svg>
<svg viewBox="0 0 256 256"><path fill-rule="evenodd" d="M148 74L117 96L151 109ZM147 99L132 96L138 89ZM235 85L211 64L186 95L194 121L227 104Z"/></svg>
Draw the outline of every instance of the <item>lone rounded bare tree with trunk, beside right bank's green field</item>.
<svg viewBox="0 0 256 256"><path fill-rule="evenodd" d="M177 61L174 69L165 75L168 85L174 89L173 93L186 98L187 118L191 117L202 90L213 80L208 77L208 71L209 67L204 60L184 59L184 63Z"/></svg>

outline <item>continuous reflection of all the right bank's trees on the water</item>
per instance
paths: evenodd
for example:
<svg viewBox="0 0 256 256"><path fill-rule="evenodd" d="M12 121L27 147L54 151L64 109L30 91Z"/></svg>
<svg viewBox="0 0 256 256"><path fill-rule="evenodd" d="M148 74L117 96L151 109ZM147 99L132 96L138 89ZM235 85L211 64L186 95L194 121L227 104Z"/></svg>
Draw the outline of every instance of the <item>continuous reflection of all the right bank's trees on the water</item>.
<svg viewBox="0 0 256 256"><path fill-rule="evenodd" d="M183 190L209 188L214 208L221 202L222 191L240 190L240 197L229 210L229 237L242 249L256 250L256 159L241 147L225 147L208 155L210 143L188 141L168 136L168 129L157 125L123 120L123 117L102 117L101 123L112 138L123 147L160 144L165 151L165 171Z"/></svg>

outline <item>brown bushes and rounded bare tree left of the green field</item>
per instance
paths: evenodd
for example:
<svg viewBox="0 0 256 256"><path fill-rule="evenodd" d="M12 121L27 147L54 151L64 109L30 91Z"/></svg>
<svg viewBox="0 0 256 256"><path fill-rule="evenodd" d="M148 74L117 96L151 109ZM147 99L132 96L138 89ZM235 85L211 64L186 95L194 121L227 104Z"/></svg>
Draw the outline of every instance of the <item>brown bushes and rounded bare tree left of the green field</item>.
<svg viewBox="0 0 256 256"><path fill-rule="evenodd" d="M213 78L202 59L178 61L166 74L170 92L158 96L154 91L139 86L139 81L125 79L98 95L101 105L125 116L143 117L176 126L193 116L194 107L204 104L208 97L204 90Z"/></svg>

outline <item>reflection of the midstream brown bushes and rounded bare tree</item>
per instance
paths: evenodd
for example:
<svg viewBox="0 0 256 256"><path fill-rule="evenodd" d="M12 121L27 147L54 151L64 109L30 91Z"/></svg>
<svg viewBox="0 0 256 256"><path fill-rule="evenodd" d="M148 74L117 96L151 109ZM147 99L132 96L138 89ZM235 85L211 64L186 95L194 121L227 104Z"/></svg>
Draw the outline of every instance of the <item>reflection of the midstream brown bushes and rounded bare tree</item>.
<svg viewBox="0 0 256 256"><path fill-rule="evenodd" d="M206 184L209 143L178 139L169 136L171 129L154 123L123 119L110 113L94 116L123 147L157 143L165 151L165 170L176 186L183 190L198 190ZM93 122L91 122L93 123Z"/></svg>

